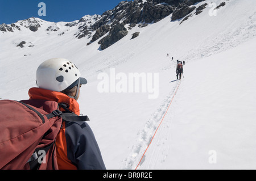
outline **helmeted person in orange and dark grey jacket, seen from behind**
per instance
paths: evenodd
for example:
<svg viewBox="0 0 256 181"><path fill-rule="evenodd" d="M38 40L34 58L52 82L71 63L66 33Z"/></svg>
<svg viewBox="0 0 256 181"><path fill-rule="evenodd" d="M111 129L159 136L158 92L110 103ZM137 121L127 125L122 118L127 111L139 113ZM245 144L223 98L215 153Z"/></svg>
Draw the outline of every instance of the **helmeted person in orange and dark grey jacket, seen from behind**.
<svg viewBox="0 0 256 181"><path fill-rule="evenodd" d="M35 104L39 99L55 101L59 103L60 111L79 116L77 100L80 87L87 83L80 75L79 69L69 60L47 60L36 71L38 88L28 91L30 100L34 100ZM92 129L85 121L63 120L56 137L56 156L60 170L106 169Z"/></svg>

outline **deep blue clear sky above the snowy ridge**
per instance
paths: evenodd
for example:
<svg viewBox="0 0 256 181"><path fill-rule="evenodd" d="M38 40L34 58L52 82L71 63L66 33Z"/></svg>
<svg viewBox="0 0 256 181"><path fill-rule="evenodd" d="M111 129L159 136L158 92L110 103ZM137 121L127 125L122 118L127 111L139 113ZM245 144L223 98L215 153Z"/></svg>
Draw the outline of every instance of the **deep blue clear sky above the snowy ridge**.
<svg viewBox="0 0 256 181"><path fill-rule="evenodd" d="M0 0L0 24L36 17L49 22L72 22L85 15L102 14L122 0ZM39 16L39 3L46 5L46 16Z"/></svg>

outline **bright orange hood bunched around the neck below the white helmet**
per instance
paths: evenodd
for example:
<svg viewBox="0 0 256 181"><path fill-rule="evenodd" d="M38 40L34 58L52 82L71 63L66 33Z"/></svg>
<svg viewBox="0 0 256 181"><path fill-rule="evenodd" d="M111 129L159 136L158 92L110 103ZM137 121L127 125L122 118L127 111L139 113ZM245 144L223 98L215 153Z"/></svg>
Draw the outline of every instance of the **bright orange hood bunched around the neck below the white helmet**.
<svg viewBox="0 0 256 181"><path fill-rule="evenodd" d="M76 115L80 115L79 103L76 99L70 98L68 95L65 95L61 92L40 89L40 88L31 88L28 91L30 99L40 99L40 100L53 100L57 103L67 103L69 105L69 110L74 112ZM65 111L63 108L60 108L60 111Z"/></svg>

